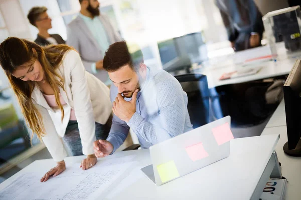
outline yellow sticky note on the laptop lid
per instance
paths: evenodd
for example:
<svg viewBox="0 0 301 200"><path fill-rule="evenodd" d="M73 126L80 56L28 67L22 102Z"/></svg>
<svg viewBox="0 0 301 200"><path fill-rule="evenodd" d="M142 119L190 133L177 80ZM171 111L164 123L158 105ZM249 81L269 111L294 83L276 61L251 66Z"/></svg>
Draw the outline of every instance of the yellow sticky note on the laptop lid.
<svg viewBox="0 0 301 200"><path fill-rule="evenodd" d="M159 173L162 183L170 181L180 176L174 160L158 165L157 171Z"/></svg>

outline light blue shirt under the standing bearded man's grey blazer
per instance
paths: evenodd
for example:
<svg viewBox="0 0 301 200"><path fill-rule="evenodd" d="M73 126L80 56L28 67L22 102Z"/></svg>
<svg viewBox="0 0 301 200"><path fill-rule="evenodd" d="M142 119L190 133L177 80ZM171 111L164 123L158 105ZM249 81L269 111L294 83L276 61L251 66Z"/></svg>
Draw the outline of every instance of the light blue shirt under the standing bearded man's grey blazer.
<svg viewBox="0 0 301 200"><path fill-rule="evenodd" d="M104 54L105 51L109 48L110 42L106 30L104 29L100 19L98 17L94 17L93 19L91 19L90 17L84 16L81 13L79 13L79 16L84 20L85 24L91 31L92 35L94 36L94 38L98 43L98 46L100 47L101 51ZM96 63L93 63L91 65L91 69L94 74L97 73ZM110 80L105 82L106 85L111 83L112 82Z"/></svg>

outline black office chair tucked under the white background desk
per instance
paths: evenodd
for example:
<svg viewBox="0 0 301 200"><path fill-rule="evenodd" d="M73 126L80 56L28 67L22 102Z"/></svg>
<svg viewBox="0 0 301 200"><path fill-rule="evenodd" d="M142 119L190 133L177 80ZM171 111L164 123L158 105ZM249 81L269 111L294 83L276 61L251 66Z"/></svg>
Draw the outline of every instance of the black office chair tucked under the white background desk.
<svg viewBox="0 0 301 200"><path fill-rule="evenodd" d="M271 84L254 81L217 88L222 114L231 116L232 128L257 126L271 116L277 107L277 103L266 103L265 94Z"/></svg>

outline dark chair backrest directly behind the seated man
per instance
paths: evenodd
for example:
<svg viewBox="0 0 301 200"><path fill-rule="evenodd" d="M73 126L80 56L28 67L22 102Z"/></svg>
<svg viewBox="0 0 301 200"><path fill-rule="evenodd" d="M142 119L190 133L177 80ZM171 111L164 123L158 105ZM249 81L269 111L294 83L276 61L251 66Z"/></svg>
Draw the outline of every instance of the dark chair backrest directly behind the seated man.
<svg viewBox="0 0 301 200"><path fill-rule="evenodd" d="M187 93L187 109L193 128L209 122L209 88L207 77L202 74L184 74L175 76Z"/></svg>

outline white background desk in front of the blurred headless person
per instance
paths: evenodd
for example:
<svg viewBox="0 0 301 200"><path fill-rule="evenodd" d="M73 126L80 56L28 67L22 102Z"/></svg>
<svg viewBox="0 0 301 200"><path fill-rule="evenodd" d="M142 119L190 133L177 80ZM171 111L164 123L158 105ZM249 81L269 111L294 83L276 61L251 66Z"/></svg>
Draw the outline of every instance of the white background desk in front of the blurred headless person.
<svg viewBox="0 0 301 200"><path fill-rule="evenodd" d="M209 88L287 75L293 67L295 60L301 58L300 52L287 55L284 47L284 49L281 48L279 53L279 57L281 59L279 59L276 62L263 60L262 62L256 62L255 64L249 63L250 65L242 66L242 62L246 59L271 54L268 46L252 48L234 53L233 55L229 55L227 57L209 60L207 66L200 69L195 69L193 70L193 72L202 73L206 75L208 79ZM262 69L255 75L233 78L228 80L219 80L223 73L257 67L262 67Z"/></svg>

